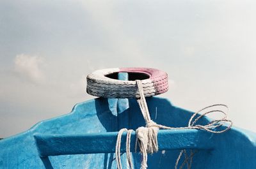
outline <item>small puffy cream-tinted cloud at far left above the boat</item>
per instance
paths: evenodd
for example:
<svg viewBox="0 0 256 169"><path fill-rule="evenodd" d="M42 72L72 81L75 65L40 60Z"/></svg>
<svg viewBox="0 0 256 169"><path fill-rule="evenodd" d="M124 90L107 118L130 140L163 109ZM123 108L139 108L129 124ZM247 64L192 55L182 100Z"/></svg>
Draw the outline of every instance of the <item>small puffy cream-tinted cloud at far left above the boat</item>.
<svg viewBox="0 0 256 169"><path fill-rule="evenodd" d="M33 83L44 82L45 75L41 70L43 58L26 54L16 55L14 59L15 73Z"/></svg>

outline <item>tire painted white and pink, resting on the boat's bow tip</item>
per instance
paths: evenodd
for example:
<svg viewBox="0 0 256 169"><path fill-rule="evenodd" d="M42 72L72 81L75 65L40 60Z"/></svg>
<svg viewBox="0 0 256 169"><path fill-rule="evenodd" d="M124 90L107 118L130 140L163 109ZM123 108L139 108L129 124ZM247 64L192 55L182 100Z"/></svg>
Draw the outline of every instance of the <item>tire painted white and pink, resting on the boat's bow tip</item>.
<svg viewBox="0 0 256 169"><path fill-rule="evenodd" d="M139 98L135 80L117 80L107 77L113 73L142 73L148 78L141 80L145 97L168 91L168 75L154 68L111 68L97 70L87 76L88 94L102 98Z"/></svg>

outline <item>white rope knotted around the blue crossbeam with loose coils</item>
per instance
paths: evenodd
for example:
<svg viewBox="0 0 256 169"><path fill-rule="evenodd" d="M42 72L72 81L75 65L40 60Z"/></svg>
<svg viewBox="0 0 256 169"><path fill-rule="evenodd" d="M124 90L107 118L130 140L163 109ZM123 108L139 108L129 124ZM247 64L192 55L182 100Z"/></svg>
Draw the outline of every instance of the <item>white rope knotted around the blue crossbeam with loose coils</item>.
<svg viewBox="0 0 256 169"><path fill-rule="evenodd" d="M146 102L146 99L145 99L145 96L143 93L143 87L142 87L141 81L136 80L136 83L138 85L138 91L140 92L140 98L138 98L137 101L138 101L138 104L140 105L141 113L146 122L145 127L140 127L138 129L136 129L135 151L137 150L137 145L139 145L140 153L141 153L141 157L142 157L141 169L147 169L147 153L152 154L152 153L158 151L157 133L158 133L159 129L203 129L203 130L209 131L211 133L223 133L232 127L232 121L227 119L227 113L224 112L223 110L211 110L211 111L208 111L208 112L198 115L200 112L207 110L208 108L217 107L217 106L225 107L228 110L227 105L223 105L223 104L211 105L209 107L202 108L201 110L199 110L198 112L196 112L195 114L193 114L191 116L191 118L189 119L189 122L188 122L188 127L173 128L173 127L157 124L156 122L152 121L152 119L150 118L150 114L148 112L147 102ZM207 114L210 114L213 112L220 112L224 116L223 116L223 118L211 121L211 122L209 122L209 124L206 124L206 125L196 124L196 122L199 119L201 119L202 117L204 117L204 115L207 115ZM198 117L196 117L196 115L198 115ZM222 129L220 131L215 131L214 130L215 128L223 126L223 122L229 123L227 128ZM129 130L120 129L120 131L118 132L118 136L117 136L117 140L116 140L116 166L118 169L122 169L122 163L120 160L120 156L121 156L120 145L121 145L121 136L122 136L122 133L124 133L124 131L127 131L127 139L126 139L127 168L133 169L131 152L130 152L132 129L129 129ZM180 161L182 154L184 154L185 158L184 158L184 162L182 163L182 165L180 165L180 169L182 169L186 163L187 163L188 169L190 169L195 151L191 151L190 155L188 156L186 150L180 151L174 168L177 169L177 166L179 165L179 161Z"/></svg>

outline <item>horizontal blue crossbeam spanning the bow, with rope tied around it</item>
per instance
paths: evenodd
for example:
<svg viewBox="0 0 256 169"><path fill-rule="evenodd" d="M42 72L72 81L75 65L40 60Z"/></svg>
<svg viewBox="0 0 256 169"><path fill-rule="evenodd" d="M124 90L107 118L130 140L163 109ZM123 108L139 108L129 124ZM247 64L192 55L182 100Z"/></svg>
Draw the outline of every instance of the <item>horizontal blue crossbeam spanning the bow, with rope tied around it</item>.
<svg viewBox="0 0 256 169"><path fill-rule="evenodd" d="M84 135L35 134L40 156L64 154L94 154L115 152L118 132L90 133ZM157 136L159 151L173 149L213 149L211 133L196 129L160 130ZM173 138L172 142L166 142ZM121 152L125 152L126 135L122 135ZM136 133L131 135L131 152L135 152ZM97 146L95 146L97 145ZM68 149L66 148L68 147ZM139 151L139 149L137 150Z"/></svg>

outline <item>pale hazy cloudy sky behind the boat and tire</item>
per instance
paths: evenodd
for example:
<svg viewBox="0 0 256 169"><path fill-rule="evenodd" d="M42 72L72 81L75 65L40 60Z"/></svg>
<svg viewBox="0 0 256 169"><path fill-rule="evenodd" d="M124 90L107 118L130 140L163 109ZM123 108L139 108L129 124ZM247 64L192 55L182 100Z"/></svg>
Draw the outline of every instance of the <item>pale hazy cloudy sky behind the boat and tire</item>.
<svg viewBox="0 0 256 169"><path fill-rule="evenodd" d="M256 132L256 1L0 1L0 138L67 114L102 68L168 73L162 97Z"/></svg>

